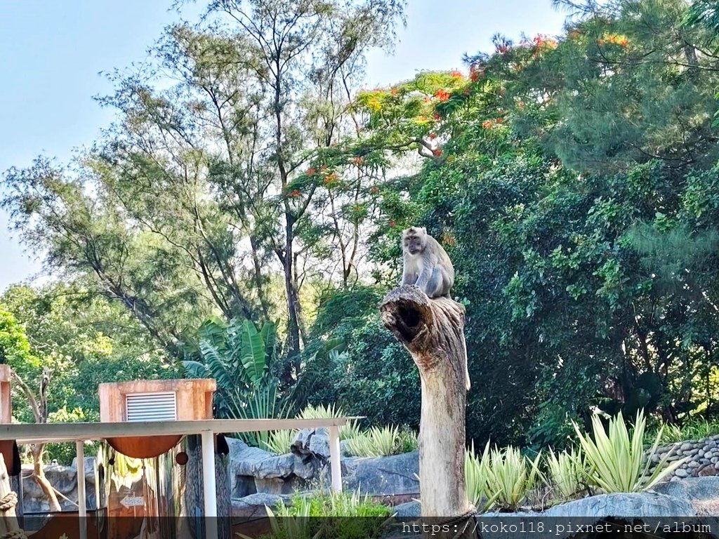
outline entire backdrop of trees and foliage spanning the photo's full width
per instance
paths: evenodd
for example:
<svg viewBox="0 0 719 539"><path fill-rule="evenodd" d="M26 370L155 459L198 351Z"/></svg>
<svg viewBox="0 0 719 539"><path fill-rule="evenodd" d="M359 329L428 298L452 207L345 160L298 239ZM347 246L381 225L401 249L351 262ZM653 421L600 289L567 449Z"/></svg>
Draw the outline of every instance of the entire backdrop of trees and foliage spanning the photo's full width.
<svg viewBox="0 0 719 539"><path fill-rule="evenodd" d="M90 306L10 290L2 356L55 366L53 411L91 416L79 387L181 358L217 377L219 415L334 403L416 428L416 367L377 303L418 225L467 306L477 444L562 446L593 407L712 418L716 3L556 3L562 35L498 34L468 75L357 92L402 2L211 1L115 78L92 152L4 175L14 227Z"/></svg>

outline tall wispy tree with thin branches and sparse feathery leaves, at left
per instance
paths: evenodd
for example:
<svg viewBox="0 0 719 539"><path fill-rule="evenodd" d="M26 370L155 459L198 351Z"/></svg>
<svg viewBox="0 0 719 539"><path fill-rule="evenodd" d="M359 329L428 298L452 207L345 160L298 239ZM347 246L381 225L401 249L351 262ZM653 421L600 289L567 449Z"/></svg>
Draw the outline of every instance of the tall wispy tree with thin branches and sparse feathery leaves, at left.
<svg viewBox="0 0 719 539"><path fill-rule="evenodd" d="M119 116L96 151L70 170L40 159L6 174L14 226L176 356L210 315L281 318L290 384L302 285L358 275L370 169L342 162L353 176L341 179L334 145L356 129L365 53L390 46L402 9L209 2L203 22L168 29L154 63L111 75L116 92L101 103ZM325 276L331 259L342 270ZM278 272L285 308L271 297Z"/></svg>

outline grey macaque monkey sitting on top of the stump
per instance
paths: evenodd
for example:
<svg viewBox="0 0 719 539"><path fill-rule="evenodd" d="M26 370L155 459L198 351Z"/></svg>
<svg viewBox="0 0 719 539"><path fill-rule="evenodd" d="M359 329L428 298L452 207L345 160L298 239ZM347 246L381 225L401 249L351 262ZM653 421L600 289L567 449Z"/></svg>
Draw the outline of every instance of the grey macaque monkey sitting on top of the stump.
<svg viewBox="0 0 719 539"><path fill-rule="evenodd" d="M449 298L454 285L452 260L427 229L413 226L402 231L403 285L419 287L429 298Z"/></svg>

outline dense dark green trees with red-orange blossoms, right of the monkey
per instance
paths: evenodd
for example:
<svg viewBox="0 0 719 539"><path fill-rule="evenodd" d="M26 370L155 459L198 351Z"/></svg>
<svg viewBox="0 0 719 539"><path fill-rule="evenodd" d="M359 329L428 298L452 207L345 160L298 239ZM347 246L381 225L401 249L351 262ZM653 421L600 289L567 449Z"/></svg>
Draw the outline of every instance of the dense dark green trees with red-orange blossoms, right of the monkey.
<svg viewBox="0 0 719 539"><path fill-rule="evenodd" d="M452 257L474 438L561 445L597 405L715 412L719 72L685 9L608 4L558 39L497 37L469 79L423 73L359 100L360 144L432 148L383 186L371 252L392 262L395 229L419 224Z"/></svg>

